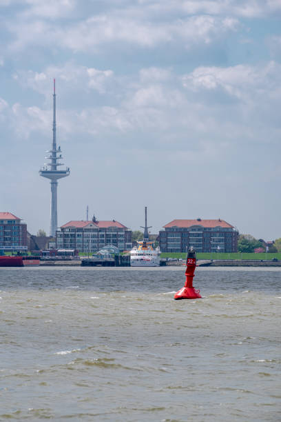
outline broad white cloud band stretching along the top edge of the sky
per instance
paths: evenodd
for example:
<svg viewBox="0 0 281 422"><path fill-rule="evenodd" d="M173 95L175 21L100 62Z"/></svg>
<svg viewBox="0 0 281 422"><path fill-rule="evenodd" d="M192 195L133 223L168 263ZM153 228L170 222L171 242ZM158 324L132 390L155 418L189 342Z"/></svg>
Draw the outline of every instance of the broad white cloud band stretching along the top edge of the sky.
<svg viewBox="0 0 281 422"><path fill-rule="evenodd" d="M149 0L133 6L130 2L107 1L103 11L94 14L92 8L90 16L76 0L19 3L25 5L24 12L6 21L12 33L8 43L12 52L38 46L52 52L67 48L93 53L105 45L120 48L124 43L141 48L184 43L191 48L237 31L241 17L264 17L281 11L279 0ZM57 18L61 18L59 25Z"/></svg>

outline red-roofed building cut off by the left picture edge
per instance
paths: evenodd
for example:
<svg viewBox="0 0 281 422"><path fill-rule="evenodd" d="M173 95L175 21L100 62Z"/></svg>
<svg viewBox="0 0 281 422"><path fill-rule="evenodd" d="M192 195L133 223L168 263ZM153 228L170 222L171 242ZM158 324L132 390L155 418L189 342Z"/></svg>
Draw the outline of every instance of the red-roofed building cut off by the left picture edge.
<svg viewBox="0 0 281 422"><path fill-rule="evenodd" d="M0 250L3 252L28 250L27 225L10 212L0 212Z"/></svg>

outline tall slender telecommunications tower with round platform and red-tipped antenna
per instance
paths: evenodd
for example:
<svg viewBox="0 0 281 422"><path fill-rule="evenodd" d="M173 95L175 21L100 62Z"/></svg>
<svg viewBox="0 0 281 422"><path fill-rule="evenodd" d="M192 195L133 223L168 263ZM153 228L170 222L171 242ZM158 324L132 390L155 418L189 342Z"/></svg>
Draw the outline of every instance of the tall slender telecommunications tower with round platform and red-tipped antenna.
<svg viewBox="0 0 281 422"><path fill-rule="evenodd" d="M59 169L59 161L63 158L61 156L61 147L56 148L56 81L54 79L54 94L53 94L53 139L51 149L48 152L48 156L45 159L50 160L49 163L44 163L43 167L39 170L39 174L42 177L50 179L51 183L51 223L50 223L50 236L56 236L56 228L58 226L58 202L57 202L57 190L58 180L62 177L70 175L70 168L67 167L65 170ZM50 155L49 155L50 154Z"/></svg>

